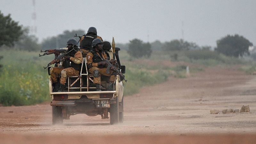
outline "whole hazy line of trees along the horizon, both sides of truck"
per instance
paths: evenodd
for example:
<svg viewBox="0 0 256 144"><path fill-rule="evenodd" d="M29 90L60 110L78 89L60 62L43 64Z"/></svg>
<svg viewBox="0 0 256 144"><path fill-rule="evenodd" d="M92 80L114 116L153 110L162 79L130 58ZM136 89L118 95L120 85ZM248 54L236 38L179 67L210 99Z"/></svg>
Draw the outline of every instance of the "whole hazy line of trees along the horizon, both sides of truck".
<svg viewBox="0 0 256 144"><path fill-rule="evenodd" d="M12 20L11 15L4 16L0 11L0 49L15 49L26 51L39 51L40 49L56 49L66 47L67 39L74 34L85 34L84 30L66 30L62 34L44 39L41 43L38 38L29 34L29 28L19 25ZM79 39L75 37L78 41ZM199 47L195 42L183 39L175 39L168 42L143 42L140 39L132 39L128 43L116 43L117 47L126 49L131 57L150 57L152 51L188 51L193 49L214 50L231 57L243 57L249 55L249 47L252 42L241 35L227 35L217 40L217 47ZM0 59L2 57L0 56ZM0 65L1 67L1 65Z"/></svg>

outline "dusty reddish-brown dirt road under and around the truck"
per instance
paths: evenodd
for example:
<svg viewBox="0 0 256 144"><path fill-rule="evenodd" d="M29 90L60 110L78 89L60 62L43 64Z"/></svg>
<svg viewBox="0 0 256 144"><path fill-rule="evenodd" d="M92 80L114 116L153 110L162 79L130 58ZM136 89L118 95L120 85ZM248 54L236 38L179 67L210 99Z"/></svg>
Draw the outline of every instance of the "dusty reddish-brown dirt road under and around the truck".
<svg viewBox="0 0 256 144"><path fill-rule="evenodd" d="M222 114L242 105L250 113ZM125 97L118 125L80 114L53 126L51 117L50 103L0 107L0 143L256 143L256 76L208 68L144 87Z"/></svg>

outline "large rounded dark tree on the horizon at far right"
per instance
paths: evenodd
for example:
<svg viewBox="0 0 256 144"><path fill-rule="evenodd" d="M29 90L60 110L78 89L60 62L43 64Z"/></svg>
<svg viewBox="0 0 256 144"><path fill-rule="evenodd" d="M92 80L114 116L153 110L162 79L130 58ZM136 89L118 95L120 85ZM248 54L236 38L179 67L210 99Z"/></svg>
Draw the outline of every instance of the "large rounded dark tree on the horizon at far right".
<svg viewBox="0 0 256 144"><path fill-rule="evenodd" d="M224 38L217 40L217 48L215 50L227 56L243 57L244 53L250 55L249 46L252 46L252 42L240 36L227 35Z"/></svg>

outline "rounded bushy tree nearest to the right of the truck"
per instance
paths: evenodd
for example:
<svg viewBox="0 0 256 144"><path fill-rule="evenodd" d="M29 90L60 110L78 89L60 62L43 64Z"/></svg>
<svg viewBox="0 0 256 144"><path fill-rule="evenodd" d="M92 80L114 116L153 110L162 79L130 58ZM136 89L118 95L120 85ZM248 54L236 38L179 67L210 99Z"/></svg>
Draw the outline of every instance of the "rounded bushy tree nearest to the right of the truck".
<svg viewBox="0 0 256 144"><path fill-rule="evenodd" d="M133 39L129 42L128 54L132 57L150 57L152 50L149 42L144 43L139 39Z"/></svg>

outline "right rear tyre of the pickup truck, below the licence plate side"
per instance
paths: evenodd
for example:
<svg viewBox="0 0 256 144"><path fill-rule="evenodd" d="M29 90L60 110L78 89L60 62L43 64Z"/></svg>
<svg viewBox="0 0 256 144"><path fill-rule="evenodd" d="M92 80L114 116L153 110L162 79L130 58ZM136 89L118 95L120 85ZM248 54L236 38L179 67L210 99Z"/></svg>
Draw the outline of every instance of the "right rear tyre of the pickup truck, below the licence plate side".
<svg viewBox="0 0 256 144"><path fill-rule="evenodd" d="M116 97L116 103L110 104L110 124L117 124L119 121L119 112L118 112L118 97Z"/></svg>

